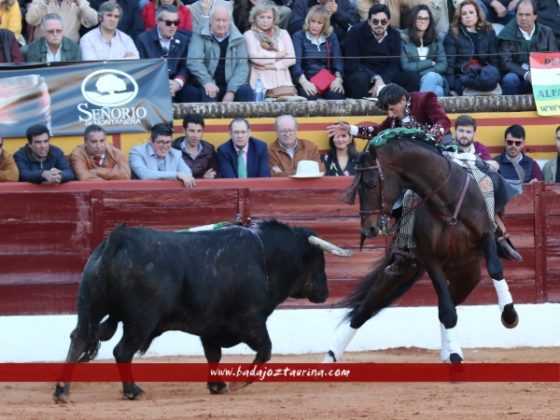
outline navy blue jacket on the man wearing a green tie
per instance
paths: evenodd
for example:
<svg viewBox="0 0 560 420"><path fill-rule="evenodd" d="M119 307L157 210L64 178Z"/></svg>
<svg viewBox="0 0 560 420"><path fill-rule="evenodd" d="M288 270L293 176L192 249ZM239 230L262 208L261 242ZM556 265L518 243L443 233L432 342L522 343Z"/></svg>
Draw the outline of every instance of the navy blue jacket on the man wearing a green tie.
<svg viewBox="0 0 560 420"><path fill-rule="evenodd" d="M220 177L237 178L237 150L233 140L218 147L218 162L220 164ZM249 149L247 151L247 177L270 176L268 168L268 149L266 143L254 137L249 138Z"/></svg>

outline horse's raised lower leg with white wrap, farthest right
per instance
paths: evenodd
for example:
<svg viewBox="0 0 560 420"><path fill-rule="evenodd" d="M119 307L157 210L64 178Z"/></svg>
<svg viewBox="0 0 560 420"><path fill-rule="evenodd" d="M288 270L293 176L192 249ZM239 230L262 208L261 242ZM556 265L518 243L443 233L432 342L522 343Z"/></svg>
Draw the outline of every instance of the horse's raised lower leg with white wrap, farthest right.
<svg viewBox="0 0 560 420"><path fill-rule="evenodd" d="M513 305L513 297L509 291L508 284L504 278L502 261L498 257L496 241L494 235L487 235L483 241L483 250L486 257L486 268L492 278L496 295L498 296L498 306L502 314L502 324L506 328L515 328L519 323L519 316Z"/></svg>

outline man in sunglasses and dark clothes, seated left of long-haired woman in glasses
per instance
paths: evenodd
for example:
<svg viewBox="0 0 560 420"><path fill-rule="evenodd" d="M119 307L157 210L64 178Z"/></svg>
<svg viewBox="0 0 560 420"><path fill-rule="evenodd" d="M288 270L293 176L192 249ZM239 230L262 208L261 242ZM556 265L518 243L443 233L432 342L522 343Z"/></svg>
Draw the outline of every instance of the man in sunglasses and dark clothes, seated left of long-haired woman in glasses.
<svg viewBox="0 0 560 420"><path fill-rule="evenodd" d="M369 10L366 22L354 25L343 44L347 96L361 99L377 96L386 83L398 83L408 90L418 86L415 75L399 74L401 36L389 26L391 15L384 4Z"/></svg>

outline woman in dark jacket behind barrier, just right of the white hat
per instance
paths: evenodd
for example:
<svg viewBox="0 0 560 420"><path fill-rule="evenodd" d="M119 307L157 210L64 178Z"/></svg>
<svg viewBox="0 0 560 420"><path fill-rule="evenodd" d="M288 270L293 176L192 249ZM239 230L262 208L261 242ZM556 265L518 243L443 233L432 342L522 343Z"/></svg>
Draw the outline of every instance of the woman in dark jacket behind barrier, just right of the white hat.
<svg viewBox="0 0 560 420"><path fill-rule="evenodd" d="M328 176L355 175L357 157L354 137L349 132L329 136L329 151L324 158Z"/></svg>

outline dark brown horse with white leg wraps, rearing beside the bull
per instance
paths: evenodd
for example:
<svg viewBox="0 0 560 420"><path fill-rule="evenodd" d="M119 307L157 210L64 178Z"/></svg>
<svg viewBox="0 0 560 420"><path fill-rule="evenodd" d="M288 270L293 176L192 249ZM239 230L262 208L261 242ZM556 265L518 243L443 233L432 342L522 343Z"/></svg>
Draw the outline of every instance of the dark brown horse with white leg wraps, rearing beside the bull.
<svg viewBox="0 0 560 420"><path fill-rule="evenodd" d="M348 202L358 193L362 240L386 230L403 189L421 197L416 207L414 239L418 263L400 276L386 274L394 243L384 261L369 273L346 300L349 328L341 328L325 361L340 359L357 329L409 290L427 272L438 297L444 361L461 362L456 337L456 306L480 282L481 258L493 279L502 323L513 328L518 316L497 254L494 230L476 182L464 168L436 148L420 130L393 130L370 142L360 155ZM394 242L394 241L393 241Z"/></svg>

